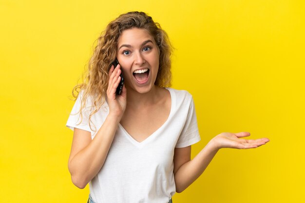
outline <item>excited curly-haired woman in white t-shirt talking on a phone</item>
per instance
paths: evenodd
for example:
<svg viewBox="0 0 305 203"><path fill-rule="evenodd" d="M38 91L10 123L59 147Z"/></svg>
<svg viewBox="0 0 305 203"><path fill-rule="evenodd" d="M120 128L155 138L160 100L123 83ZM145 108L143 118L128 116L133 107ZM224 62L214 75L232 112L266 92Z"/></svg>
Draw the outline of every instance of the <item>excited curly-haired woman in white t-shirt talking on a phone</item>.
<svg viewBox="0 0 305 203"><path fill-rule="evenodd" d="M187 91L169 87L171 54L167 34L143 12L119 16L98 38L67 121L74 130L68 168L77 187L89 183L88 202L171 203L219 149L269 141L221 133L191 160L200 140L194 103Z"/></svg>

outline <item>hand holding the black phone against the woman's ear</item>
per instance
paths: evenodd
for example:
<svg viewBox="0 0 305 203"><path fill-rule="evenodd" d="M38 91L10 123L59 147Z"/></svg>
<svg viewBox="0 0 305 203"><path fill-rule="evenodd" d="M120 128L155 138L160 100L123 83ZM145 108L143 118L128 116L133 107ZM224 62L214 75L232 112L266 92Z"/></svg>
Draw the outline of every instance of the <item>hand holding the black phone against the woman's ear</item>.
<svg viewBox="0 0 305 203"><path fill-rule="evenodd" d="M122 118L126 109L126 88L123 85L122 93L120 95L115 94L116 88L121 82L121 69L120 65L114 67L111 66L109 70L109 82L107 88L107 102L109 105L109 114Z"/></svg>

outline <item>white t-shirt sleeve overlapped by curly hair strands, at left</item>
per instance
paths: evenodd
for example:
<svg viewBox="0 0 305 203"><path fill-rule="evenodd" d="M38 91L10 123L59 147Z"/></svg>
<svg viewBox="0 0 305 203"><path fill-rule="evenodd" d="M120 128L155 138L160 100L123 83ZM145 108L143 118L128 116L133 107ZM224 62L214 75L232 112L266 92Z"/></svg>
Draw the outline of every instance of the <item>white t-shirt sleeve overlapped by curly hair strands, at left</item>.
<svg viewBox="0 0 305 203"><path fill-rule="evenodd" d="M89 123L88 123L91 107L83 108L82 109L82 118L80 117L79 110L80 110L80 105L81 105L81 98L82 98L82 92L80 92L77 96L77 99L72 108L72 111L70 113L66 126L68 128L70 128L71 130L74 130L74 128L78 128L81 130L92 132L92 130L90 129ZM89 101L87 100L87 103L88 102Z"/></svg>

